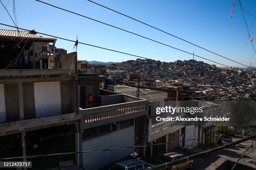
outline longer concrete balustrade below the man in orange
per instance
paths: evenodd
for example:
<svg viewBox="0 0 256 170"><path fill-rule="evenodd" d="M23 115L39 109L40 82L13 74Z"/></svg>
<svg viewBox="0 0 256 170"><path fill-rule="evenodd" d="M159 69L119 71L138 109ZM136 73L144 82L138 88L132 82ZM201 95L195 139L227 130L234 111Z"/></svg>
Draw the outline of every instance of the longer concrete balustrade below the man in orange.
<svg viewBox="0 0 256 170"><path fill-rule="evenodd" d="M84 123L91 123L125 115L132 115L139 112L145 112L146 114L148 110L148 101L140 100L80 110L84 117Z"/></svg>

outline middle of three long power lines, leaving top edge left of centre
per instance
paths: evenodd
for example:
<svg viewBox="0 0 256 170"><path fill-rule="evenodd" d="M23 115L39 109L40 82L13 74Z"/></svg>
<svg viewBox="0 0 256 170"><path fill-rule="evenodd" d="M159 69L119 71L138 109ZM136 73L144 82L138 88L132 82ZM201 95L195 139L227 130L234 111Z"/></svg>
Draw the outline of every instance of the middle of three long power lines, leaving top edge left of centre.
<svg viewBox="0 0 256 170"><path fill-rule="evenodd" d="M176 49L176 50L179 50L179 51L185 52L185 53L187 53L187 54L193 55L193 53L191 53L191 52L187 52L187 51L181 50L181 49L176 48L176 47L173 47L173 46L171 46L171 45L167 45L167 44L164 44L164 43L162 43L162 42L159 42L159 41L153 40L153 39L151 39L151 38L145 37L145 36L143 36L143 35L139 35L139 34L136 34L136 33L134 33L134 32L131 32L131 31L128 31L128 30L124 30L123 28L119 28L119 27L116 27L116 26L114 26L114 25L110 25L110 24L107 24L107 23L103 23L102 21L95 20L95 19L90 18L90 17L87 17L87 16L85 16L85 15L82 15L82 14L79 14L79 13L75 13L75 12L72 12L72 11L70 11L70 10L66 10L66 9L64 9L64 8L57 7L57 6L55 6L55 5L51 5L51 4L46 3L46 2L43 2L43 1L41 1L41 0L35 0L35 1L44 3L44 4L49 5L49 6L51 6L51 7L55 7L55 8L57 8L57 9L64 10L64 11L66 11L66 12L69 12L69 13L72 13L72 14L75 14L75 15L79 15L79 16L81 16L81 17L84 17L84 18L93 20L93 21L95 21L95 22L98 22L98 23L101 23L101 24L104 24L104 25L108 25L108 26L113 27L113 28L116 28L116 29L118 29L118 30L125 31L125 32L131 33L131 34L133 34L133 35L137 35L137 36L139 36L139 37L145 38L145 39L147 39L147 40L151 40L151 41L153 41L153 42L159 43L159 44L161 44L161 45L165 45L165 46L167 46L167 47L171 47L171 48L174 48L174 49ZM200 57L200 56L198 56L198 55L195 55L195 56ZM209 59L206 59L206 58L204 58L204 57L200 57L200 58L205 59L205 60L208 60L208 61L211 61L211 62L214 62L214 61L209 60ZM218 63L218 62L215 62L215 63L220 64L220 63ZM237 63L238 63L238 62L237 62ZM241 64L241 63L239 63L239 64ZM220 64L220 65L223 65L223 64ZM243 64L241 64L241 65L243 65ZM227 66L227 65L223 65L223 66L225 66L225 67L230 67L230 66ZM247 66L247 65L244 65L244 66L250 67L250 66ZM230 67L230 68L232 68L232 67ZM250 67L250 68L256 70L256 69L253 68L253 67Z"/></svg>

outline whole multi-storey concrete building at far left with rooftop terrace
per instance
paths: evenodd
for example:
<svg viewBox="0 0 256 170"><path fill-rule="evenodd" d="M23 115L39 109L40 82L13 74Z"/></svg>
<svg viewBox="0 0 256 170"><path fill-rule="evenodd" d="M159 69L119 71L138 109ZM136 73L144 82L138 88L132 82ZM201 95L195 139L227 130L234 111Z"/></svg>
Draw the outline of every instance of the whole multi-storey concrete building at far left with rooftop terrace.
<svg viewBox="0 0 256 170"><path fill-rule="evenodd" d="M77 105L77 55L73 55L74 67L38 69L33 67L36 43L56 39L22 31L20 34L13 30L4 32L11 34L5 35L0 30L0 44L6 47L0 52L1 58L6 59L1 62L5 69L0 71L0 158L78 151L82 135ZM18 42L20 48L12 53L10 47ZM13 69L9 60L18 53L24 54L25 48L32 50L30 69L23 66ZM79 165L78 155L23 160L33 161L36 169Z"/></svg>

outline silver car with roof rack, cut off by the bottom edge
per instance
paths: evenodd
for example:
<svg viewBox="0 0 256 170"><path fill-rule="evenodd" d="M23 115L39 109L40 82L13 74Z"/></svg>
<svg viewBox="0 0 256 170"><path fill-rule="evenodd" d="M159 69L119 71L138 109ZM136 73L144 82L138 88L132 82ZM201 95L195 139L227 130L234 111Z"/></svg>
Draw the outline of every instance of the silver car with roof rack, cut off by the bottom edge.
<svg viewBox="0 0 256 170"><path fill-rule="evenodd" d="M128 159L123 160L118 163L111 165L109 170L141 170L143 168L148 168L154 166L153 164L146 163L143 160L138 159Z"/></svg>

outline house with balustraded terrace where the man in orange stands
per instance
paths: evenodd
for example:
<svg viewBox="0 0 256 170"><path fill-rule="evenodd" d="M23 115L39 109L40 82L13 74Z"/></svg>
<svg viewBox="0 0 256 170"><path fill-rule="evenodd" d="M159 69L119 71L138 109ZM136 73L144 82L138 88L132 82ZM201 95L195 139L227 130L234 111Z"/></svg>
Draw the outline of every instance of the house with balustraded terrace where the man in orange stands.
<svg viewBox="0 0 256 170"><path fill-rule="evenodd" d="M148 115L148 100L100 90L100 82L106 78L90 74L78 75L82 150L144 145L146 131L144 122ZM95 107L92 108L88 108L87 101L84 100L89 91L95 99ZM127 148L83 153L82 166L86 170L97 170L135 152L143 155L144 150Z"/></svg>

